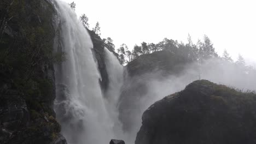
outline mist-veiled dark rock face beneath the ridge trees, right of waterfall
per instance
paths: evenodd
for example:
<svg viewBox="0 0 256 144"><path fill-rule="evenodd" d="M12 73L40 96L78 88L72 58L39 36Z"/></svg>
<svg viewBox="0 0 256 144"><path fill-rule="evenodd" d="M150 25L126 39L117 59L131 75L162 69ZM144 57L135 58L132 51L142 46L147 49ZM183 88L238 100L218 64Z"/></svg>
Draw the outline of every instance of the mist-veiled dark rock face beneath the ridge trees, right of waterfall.
<svg viewBox="0 0 256 144"><path fill-rule="evenodd" d="M141 99L147 97L147 83L167 75L182 75L187 63L183 56L174 55L170 51L157 51L139 56L126 65L125 84L119 105L119 119L124 130L131 130L132 119L139 112Z"/></svg>

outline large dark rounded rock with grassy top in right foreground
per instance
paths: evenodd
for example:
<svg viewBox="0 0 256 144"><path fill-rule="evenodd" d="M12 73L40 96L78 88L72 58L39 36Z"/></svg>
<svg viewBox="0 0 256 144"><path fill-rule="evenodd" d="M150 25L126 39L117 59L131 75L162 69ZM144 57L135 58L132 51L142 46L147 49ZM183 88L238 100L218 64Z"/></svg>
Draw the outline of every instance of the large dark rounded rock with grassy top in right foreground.
<svg viewBox="0 0 256 144"><path fill-rule="evenodd" d="M143 113L135 143L255 143L255 104L254 93L195 81Z"/></svg>

